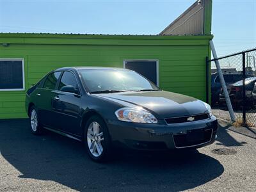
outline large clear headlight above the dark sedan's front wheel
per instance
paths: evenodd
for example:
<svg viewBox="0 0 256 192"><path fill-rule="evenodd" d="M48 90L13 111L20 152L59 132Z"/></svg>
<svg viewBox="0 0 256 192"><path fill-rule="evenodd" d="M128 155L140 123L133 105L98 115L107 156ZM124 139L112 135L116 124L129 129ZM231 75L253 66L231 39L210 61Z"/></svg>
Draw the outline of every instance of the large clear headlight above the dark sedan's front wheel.
<svg viewBox="0 0 256 192"><path fill-rule="evenodd" d="M115 112L115 115L118 120L124 122L157 124L156 117L144 109L121 108Z"/></svg>

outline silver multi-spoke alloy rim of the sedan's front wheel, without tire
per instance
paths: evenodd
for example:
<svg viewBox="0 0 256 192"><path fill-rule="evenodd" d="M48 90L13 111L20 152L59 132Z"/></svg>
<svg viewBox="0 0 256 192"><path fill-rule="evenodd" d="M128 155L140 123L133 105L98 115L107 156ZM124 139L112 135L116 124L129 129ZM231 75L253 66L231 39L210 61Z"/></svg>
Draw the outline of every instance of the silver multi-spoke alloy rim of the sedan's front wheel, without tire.
<svg viewBox="0 0 256 192"><path fill-rule="evenodd" d="M102 141L104 140L103 132L97 122L92 122L87 131L87 143L91 154L99 157L103 152Z"/></svg>

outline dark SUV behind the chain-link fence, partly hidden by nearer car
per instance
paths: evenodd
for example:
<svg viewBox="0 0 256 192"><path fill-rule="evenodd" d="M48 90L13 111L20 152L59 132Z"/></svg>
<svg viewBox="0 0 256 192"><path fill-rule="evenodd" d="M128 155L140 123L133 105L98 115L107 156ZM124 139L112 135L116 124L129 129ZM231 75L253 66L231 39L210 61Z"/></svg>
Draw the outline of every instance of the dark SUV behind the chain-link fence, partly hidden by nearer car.
<svg viewBox="0 0 256 192"><path fill-rule="evenodd" d="M225 80L226 85L233 84L237 81L241 81L243 79L242 72L236 73L223 73L223 77ZM246 78L253 77L252 75L246 74ZM221 92L221 83L220 83L220 76L218 72L211 74L211 99L212 99L212 106L216 105L220 99L220 92Z"/></svg>

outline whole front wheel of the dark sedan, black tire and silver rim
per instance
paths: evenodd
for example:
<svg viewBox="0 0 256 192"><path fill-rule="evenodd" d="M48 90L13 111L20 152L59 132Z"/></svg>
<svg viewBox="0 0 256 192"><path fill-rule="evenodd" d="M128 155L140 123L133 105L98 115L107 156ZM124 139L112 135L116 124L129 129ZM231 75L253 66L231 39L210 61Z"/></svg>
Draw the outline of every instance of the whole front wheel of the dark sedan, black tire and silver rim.
<svg viewBox="0 0 256 192"><path fill-rule="evenodd" d="M84 145L93 161L105 162L111 157L111 139L108 127L100 116L92 116L84 127Z"/></svg>

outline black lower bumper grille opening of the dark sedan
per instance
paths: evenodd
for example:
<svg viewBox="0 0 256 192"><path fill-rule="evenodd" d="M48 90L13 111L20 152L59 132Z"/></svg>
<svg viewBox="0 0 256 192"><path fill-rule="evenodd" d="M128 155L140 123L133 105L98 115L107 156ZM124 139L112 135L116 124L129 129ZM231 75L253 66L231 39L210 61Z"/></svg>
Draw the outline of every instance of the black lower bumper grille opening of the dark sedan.
<svg viewBox="0 0 256 192"><path fill-rule="evenodd" d="M212 129L195 129L186 134L173 135L175 147L193 147L203 143L208 143L212 138Z"/></svg>

